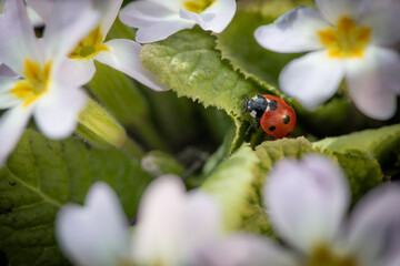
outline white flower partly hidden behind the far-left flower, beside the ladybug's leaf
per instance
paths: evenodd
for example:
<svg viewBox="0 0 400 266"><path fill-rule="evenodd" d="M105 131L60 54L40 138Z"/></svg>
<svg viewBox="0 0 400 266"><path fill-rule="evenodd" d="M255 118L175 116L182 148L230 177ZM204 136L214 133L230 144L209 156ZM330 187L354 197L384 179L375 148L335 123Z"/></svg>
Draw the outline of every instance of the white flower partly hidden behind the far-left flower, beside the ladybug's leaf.
<svg viewBox="0 0 400 266"><path fill-rule="evenodd" d="M89 34L69 54L70 68L79 69L91 76L96 72L93 60L117 69L140 83L156 91L168 90L168 86L157 80L140 62L140 44L127 39L106 41L106 37L120 10L122 0L91 0L96 11L100 12L100 21ZM27 2L46 21L52 13L57 0L27 0ZM90 81L88 79L88 81Z"/></svg>

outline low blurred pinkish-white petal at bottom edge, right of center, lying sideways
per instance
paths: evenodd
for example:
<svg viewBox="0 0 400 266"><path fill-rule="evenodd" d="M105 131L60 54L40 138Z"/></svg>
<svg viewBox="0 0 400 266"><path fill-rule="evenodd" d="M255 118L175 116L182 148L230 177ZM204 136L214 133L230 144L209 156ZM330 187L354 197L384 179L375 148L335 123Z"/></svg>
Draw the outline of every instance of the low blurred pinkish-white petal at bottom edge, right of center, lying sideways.
<svg viewBox="0 0 400 266"><path fill-rule="evenodd" d="M208 243L194 256L196 266L296 266L292 255L258 235L237 234Z"/></svg>

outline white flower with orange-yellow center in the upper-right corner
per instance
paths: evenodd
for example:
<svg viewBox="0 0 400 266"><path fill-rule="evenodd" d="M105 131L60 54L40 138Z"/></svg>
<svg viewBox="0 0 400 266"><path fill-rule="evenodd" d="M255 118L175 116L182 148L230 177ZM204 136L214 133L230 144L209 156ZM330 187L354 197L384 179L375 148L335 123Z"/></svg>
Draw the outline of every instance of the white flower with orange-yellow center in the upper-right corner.
<svg viewBox="0 0 400 266"><path fill-rule="evenodd" d="M400 94L400 4L390 0L316 0L320 12L299 7L254 32L266 49L311 53L281 72L281 90L314 109L331 98L343 76L356 106L387 120Z"/></svg>

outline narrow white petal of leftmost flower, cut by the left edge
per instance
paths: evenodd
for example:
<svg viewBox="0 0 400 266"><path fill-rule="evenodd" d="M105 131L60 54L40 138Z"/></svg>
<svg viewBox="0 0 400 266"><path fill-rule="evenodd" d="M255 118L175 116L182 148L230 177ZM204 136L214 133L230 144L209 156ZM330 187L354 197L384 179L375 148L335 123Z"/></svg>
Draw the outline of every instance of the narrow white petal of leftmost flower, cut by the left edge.
<svg viewBox="0 0 400 266"><path fill-rule="evenodd" d="M32 114L30 106L18 105L0 117L0 168L16 147Z"/></svg>

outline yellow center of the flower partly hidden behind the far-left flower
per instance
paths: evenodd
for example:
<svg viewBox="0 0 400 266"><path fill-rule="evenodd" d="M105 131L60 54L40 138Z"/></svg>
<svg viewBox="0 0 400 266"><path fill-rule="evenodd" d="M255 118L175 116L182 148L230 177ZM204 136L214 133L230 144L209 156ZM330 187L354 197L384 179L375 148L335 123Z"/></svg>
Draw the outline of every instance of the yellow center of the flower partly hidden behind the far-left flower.
<svg viewBox="0 0 400 266"><path fill-rule="evenodd" d="M100 25L92 30L89 35L79 42L79 44L70 53L70 59L91 59L102 51L109 50L102 42L103 35L101 34Z"/></svg>

